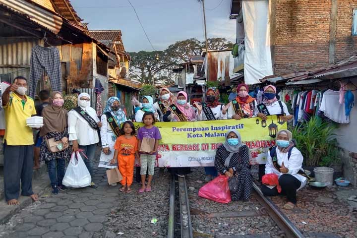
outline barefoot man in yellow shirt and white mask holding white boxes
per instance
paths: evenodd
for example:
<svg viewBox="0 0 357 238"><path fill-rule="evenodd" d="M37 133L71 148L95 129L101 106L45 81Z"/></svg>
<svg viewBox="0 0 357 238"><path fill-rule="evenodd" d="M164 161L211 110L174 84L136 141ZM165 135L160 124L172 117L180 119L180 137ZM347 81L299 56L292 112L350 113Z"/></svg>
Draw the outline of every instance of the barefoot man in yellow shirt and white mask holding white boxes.
<svg viewBox="0 0 357 238"><path fill-rule="evenodd" d="M8 205L19 204L20 181L21 195L38 200L32 191L34 140L32 129L26 125L26 119L35 115L36 110L33 99L25 95L26 91L26 78L18 76L2 94L6 121L3 173Z"/></svg>

